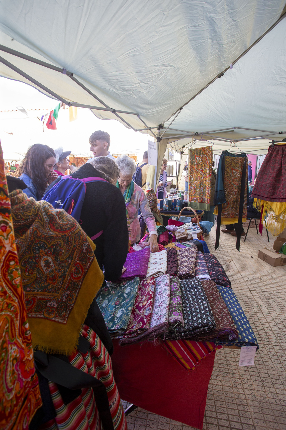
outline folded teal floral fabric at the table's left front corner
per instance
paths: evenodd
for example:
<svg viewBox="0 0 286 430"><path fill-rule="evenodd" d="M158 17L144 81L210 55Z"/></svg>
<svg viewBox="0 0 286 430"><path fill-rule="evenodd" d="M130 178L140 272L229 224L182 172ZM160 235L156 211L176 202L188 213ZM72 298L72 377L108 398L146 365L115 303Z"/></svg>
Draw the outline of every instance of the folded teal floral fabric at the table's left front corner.
<svg viewBox="0 0 286 430"><path fill-rule="evenodd" d="M126 331L139 283L138 277L116 284L107 283L96 299L111 336Z"/></svg>

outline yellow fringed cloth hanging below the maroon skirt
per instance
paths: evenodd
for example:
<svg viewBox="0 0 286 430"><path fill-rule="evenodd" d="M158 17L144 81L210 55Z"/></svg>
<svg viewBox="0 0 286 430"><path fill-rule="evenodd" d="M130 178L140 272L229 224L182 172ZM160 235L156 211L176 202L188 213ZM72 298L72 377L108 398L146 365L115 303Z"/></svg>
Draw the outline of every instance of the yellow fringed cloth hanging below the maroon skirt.
<svg viewBox="0 0 286 430"><path fill-rule="evenodd" d="M259 211L262 211L262 220L267 216L267 230L278 236L286 228L286 202L267 202L265 200L254 199L253 206ZM274 209L275 212L274 212ZM276 215L277 214L277 215Z"/></svg>

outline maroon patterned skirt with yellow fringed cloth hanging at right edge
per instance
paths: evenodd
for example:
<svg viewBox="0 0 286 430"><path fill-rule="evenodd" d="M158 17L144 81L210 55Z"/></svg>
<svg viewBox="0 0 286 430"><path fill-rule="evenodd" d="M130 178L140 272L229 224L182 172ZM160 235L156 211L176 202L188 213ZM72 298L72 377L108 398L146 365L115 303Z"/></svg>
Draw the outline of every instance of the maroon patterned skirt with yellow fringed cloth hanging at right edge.
<svg viewBox="0 0 286 430"><path fill-rule="evenodd" d="M283 142L283 141L282 141ZM286 227L286 143L275 144L259 169L253 191L253 206L261 212L259 231L268 212L267 228L278 236Z"/></svg>

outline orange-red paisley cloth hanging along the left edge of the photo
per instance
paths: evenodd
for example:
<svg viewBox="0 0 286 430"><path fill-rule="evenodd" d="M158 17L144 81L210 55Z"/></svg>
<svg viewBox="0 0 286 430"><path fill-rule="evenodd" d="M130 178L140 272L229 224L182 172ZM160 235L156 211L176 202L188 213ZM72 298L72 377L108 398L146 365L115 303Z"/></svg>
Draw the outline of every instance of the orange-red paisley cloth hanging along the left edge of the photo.
<svg viewBox="0 0 286 430"><path fill-rule="evenodd" d="M0 146L0 428L28 430L42 405Z"/></svg>

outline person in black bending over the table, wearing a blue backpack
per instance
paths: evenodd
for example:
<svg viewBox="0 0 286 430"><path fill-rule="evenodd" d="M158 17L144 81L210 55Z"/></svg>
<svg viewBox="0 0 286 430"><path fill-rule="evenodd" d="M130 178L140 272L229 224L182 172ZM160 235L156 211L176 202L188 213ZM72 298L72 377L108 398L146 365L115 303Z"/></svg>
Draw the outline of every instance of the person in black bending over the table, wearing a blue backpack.
<svg viewBox="0 0 286 430"><path fill-rule="evenodd" d="M86 187L85 194L79 195L82 206L80 207L78 221L82 230L93 240L96 245L94 254L100 269L104 267L105 280L115 282L120 278L123 264L128 253L128 230L126 221L126 208L124 198L114 185L119 177L119 169L111 158L95 157L91 163L81 166L76 172L69 175L69 178L57 178L46 190L45 197L58 206L64 203L62 197L69 186L77 191L79 185ZM80 179L70 184L72 179ZM62 184L59 184L59 182ZM65 185L65 181L66 185ZM57 195L57 188L61 187L61 195ZM74 187L74 188L72 188ZM84 188L83 188L84 189ZM54 194L54 197L53 197ZM52 197L54 198L53 203ZM78 200L76 195L71 195L73 200L72 211L67 211L74 216L74 211L78 213ZM72 206L68 203L68 206ZM68 208L69 209L69 208ZM74 216L77 219L76 216Z"/></svg>

